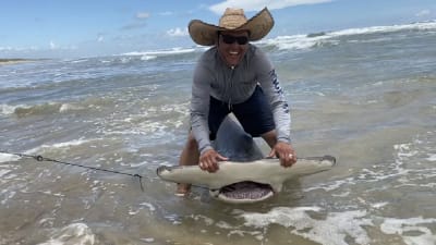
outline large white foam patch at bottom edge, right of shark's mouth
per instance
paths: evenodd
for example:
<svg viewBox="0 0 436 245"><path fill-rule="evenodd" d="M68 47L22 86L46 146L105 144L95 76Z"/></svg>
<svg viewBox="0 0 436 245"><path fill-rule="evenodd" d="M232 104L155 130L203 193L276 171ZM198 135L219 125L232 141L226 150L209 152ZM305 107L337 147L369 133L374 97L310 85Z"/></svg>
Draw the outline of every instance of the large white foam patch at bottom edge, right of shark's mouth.
<svg viewBox="0 0 436 245"><path fill-rule="evenodd" d="M244 225L267 228L270 224L280 224L290 228L290 232L324 245L347 245L346 237L352 237L355 244L371 242L363 225L373 225L366 219L366 211L354 210L330 212L326 219L312 218L308 211L320 211L319 207L277 207L267 213L243 212Z"/></svg>

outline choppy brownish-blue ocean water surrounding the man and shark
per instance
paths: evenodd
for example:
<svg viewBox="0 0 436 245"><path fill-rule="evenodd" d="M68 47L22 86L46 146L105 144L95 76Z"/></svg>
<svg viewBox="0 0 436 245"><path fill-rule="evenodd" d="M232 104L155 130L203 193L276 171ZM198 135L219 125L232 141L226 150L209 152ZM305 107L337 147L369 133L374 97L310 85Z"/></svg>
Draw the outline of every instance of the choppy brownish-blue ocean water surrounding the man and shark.
<svg viewBox="0 0 436 245"><path fill-rule="evenodd" d="M178 163L204 48L0 65L0 244L436 244L436 23L257 45L298 156L332 170L254 205L175 197L155 170Z"/></svg>

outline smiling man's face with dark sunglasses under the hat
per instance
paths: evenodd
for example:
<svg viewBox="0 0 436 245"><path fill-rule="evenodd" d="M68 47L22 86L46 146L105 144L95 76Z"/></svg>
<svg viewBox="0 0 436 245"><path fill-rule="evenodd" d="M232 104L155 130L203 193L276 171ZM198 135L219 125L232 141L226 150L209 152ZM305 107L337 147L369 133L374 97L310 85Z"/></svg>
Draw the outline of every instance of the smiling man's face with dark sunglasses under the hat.
<svg viewBox="0 0 436 245"><path fill-rule="evenodd" d="M249 47L249 32L221 32L218 40L218 52L226 63L235 66L244 57Z"/></svg>

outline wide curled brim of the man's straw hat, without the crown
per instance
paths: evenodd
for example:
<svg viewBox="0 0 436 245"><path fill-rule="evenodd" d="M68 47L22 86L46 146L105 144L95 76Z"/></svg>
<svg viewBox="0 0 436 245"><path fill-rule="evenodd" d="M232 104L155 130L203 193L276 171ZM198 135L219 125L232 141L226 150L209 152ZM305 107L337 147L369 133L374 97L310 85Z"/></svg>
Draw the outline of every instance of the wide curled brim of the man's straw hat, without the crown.
<svg viewBox="0 0 436 245"><path fill-rule="evenodd" d="M234 28L228 29L223 27L219 27L216 25L204 23L199 20L193 20L189 24L190 36L193 41L197 45L202 46L213 46L217 39L218 32L238 32L238 30L249 30L250 32L250 41L256 41L268 35L274 26L274 19L271 13L269 13L268 9L265 8L256 15L251 17L245 24Z"/></svg>

